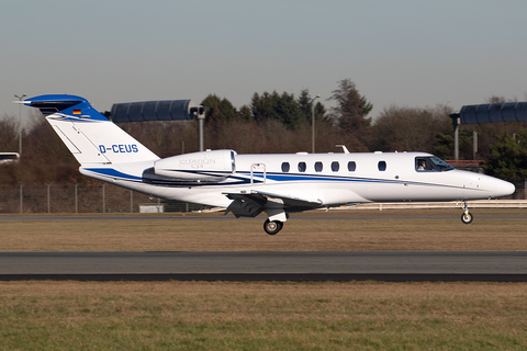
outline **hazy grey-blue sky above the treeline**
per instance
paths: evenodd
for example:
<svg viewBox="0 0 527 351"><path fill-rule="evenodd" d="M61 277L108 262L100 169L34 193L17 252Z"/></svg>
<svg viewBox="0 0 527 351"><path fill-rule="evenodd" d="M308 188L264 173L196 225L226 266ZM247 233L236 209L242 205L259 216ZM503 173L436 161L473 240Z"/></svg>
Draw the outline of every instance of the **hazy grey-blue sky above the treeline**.
<svg viewBox="0 0 527 351"><path fill-rule="evenodd" d="M322 102L350 78L373 103L525 100L525 0L20 0L0 12L0 116L14 94L69 93L96 109L209 93ZM29 109L24 110L25 112Z"/></svg>

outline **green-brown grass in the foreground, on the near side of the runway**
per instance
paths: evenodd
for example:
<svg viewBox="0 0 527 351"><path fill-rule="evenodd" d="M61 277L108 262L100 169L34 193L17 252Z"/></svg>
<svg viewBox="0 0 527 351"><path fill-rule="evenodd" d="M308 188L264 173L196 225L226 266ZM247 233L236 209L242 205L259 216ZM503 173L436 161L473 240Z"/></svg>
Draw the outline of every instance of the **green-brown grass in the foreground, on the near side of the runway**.
<svg viewBox="0 0 527 351"><path fill-rule="evenodd" d="M526 284L2 283L1 350L525 350Z"/></svg>

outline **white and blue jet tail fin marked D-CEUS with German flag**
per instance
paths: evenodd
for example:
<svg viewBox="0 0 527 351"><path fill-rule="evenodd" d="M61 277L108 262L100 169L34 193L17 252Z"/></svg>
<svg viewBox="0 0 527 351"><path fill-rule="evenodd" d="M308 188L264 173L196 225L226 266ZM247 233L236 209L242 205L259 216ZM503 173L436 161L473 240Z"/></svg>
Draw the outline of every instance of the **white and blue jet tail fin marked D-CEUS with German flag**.
<svg viewBox="0 0 527 351"><path fill-rule="evenodd" d="M131 135L75 95L41 95L24 100L46 116L81 166L159 159Z"/></svg>

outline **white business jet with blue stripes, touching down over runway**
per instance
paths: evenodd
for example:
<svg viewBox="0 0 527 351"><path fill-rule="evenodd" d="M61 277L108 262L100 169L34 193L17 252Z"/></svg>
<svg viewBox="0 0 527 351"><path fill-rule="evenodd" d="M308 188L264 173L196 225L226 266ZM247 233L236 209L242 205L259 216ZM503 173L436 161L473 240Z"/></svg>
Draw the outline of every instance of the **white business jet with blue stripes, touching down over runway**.
<svg viewBox="0 0 527 351"><path fill-rule="evenodd" d="M18 101L15 101L18 102ZM82 174L148 195L227 208L236 217L265 212L267 234L290 213L382 202L467 201L506 196L506 181L457 170L425 152L237 155L208 150L160 159L75 95L40 95L40 109L80 163Z"/></svg>

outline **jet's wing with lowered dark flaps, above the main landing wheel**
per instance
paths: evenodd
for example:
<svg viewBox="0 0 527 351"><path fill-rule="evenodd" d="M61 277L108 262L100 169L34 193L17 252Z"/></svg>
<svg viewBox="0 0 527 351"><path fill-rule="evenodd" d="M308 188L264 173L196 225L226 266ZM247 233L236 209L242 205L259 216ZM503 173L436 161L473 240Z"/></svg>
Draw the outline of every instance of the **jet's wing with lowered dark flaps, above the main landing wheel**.
<svg viewBox="0 0 527 351"><path fill-rule="evenodd" d="M285 212L302 212L322 206L321 200L302 199L262 191L224 194L233 200L225 214L232 212L236 217L256 217L269 208L282 208Z"/></svg>

